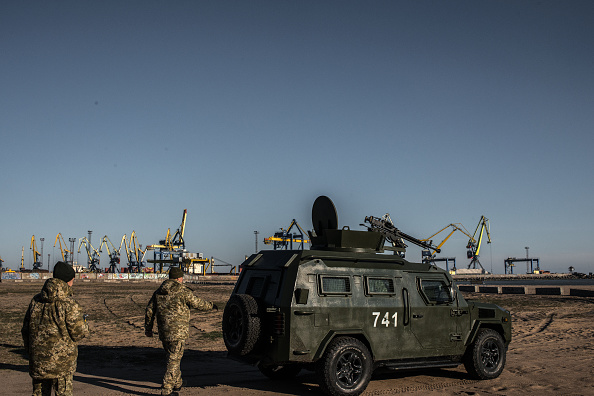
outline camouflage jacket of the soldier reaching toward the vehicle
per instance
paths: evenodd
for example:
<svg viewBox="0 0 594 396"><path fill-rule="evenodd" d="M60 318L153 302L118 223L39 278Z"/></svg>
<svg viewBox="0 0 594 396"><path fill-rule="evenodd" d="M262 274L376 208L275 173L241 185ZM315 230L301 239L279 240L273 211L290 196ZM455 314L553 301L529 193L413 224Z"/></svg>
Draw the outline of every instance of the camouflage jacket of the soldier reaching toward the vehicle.
<svg viewBox="0 0 594 396"><path fill-rule="evenodd" d="M185 340L189 335L190 308L208 311L212 302L196 297L177 280L168 279L146 306L144 330L153 331L156 316L161 341Z"/></svg>

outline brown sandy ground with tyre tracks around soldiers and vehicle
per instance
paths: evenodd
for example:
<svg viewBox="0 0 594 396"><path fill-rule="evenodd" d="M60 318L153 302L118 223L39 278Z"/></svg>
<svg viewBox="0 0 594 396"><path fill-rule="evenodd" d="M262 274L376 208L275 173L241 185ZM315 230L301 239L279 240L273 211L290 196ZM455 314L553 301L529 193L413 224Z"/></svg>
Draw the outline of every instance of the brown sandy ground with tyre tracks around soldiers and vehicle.
<svg viewBox="0 0 594 396"><path fill-rule="evenodd" d="M159 394L164 353L143 331L144 307L158 284L74 285L75 298L89 314L92 335L80 343L76 395ZM195 294L224 307L231 286L189 285ZM31 297L42 283L0 283L0 394L31 392L20 328ZM466 298L509 309L513 341L503 374L475 381L464 371L442 369L376 372L366 395L594 395L594 298L480 295ZM194 312L182 361L187 386L182 395L321 394L313 373L295 380L268 380L252 366L226 358L219 312Z"/></svg>

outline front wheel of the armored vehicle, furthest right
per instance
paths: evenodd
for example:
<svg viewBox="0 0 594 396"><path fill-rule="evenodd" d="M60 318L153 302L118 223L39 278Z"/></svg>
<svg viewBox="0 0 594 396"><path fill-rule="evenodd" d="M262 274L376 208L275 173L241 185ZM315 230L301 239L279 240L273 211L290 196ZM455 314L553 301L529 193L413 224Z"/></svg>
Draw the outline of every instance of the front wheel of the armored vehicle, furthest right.
<svg viewBox="0 0 594 396"><path fill-rule="evenodd" d="M464 355L464 367L476 379L499 377L505 366L505 344L501 334L480 329Z"/></svg>

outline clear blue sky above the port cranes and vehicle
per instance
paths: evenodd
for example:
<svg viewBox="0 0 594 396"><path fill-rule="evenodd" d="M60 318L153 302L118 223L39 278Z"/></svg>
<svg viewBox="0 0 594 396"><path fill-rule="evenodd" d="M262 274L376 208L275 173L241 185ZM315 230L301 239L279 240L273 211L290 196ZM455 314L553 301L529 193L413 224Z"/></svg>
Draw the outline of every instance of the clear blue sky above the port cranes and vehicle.
<svg viewBox="0 0 594 396"><path fill-rule="evenodd" d="M7 267L186 208L187 248L239 264L327 195L419 238L484 215L495 273L594 271L592 2L4 1L0 45Z"/></svg>

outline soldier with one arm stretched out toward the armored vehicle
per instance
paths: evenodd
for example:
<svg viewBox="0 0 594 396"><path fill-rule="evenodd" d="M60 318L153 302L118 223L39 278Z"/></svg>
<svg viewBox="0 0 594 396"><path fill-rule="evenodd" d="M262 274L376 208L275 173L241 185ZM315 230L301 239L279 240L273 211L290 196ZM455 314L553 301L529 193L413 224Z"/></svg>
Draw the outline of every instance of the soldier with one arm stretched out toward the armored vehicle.
<svg viewBox="0 0 594 396"><path fill-rule="evenodd" d="M167 369L163 376L161 395L177 395L183 386L180 362L184 355L184 345L189 335L190 308L201 311L218 310L212 302L192 294L183 286L184 272L179 267L169 270L169 279L153 293L146 306L144 333L153 336L155 316L159 328L159 339L167 354Z"/></svg>

